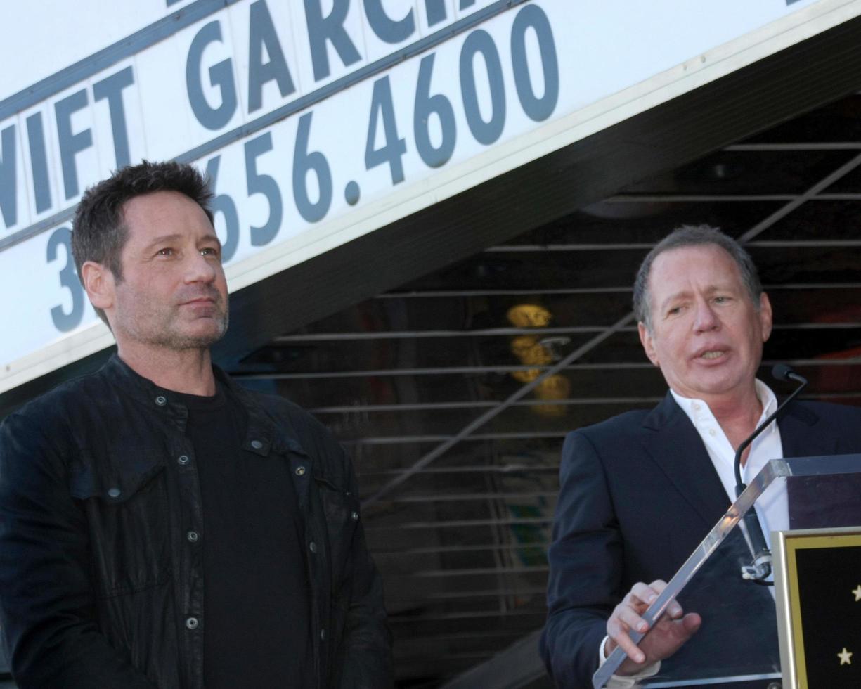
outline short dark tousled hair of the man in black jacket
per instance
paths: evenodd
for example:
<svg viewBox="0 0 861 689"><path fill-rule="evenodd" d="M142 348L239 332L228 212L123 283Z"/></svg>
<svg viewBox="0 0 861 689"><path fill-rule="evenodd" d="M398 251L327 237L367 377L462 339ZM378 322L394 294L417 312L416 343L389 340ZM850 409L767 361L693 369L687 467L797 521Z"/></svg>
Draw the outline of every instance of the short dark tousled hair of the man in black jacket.
<svg viewBox="0 0 861 689"><path fill-rule="evenodd" d="M209 221L213 221L209 208L213 193L208 179L192 165L145 160L121 168L87 189L77 204L72 221L71 252L82 282L81 266L87 261L107 266L116 282L122 282L121 253L128 236L123 208L136 196L156 191L178 191L188 196L203 209ZM108 323L101 308L96 308L96 313Z"/></svg>

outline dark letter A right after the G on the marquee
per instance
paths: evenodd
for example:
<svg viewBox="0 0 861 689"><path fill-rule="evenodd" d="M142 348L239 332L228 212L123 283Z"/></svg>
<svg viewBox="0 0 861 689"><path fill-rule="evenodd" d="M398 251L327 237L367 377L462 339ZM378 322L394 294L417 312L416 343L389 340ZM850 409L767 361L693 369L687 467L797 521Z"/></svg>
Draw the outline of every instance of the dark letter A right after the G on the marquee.
<svg viewBox="0 0 861 689"><path fill-rule="evenodd" d="M281 97L296 90L284 51L278 40L272 16L265 0L257 0L250 8L251 25L248 30L248 112L263 107L263 84L273 79L278 84ZM263 63L263 47L269 55L269 62Z"/></svg>

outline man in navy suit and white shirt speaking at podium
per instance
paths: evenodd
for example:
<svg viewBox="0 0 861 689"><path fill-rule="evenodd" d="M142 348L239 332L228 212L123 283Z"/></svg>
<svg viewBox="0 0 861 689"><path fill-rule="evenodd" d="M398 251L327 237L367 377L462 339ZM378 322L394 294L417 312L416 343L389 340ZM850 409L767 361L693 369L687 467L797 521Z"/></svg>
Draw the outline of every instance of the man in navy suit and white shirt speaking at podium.
<svg viewBox="0 0 861 689"><path fill-rule="evenodd" d="M771 304L733 239L710 227L669 235L641 265L634 307L643 348L670 391L651 412L624 413L566 439L541 643L561 687L592 686L616 645L629 658L610 686L635 686L665 659L665 670L699 667L702 676L709 667L716 676L743 674L746 659L777 659L774 602L767 588L741 579L738 530L708 575L683 592L689 612L673 602L639 648L630 639L630 630L646 630L641 614L732 501L735 448L777 407L755 378ZM859 450L858 410L794 403L746 450L744 476L774 457ZM789 526L785 488L769 490L759 514L766 533Z"/></svg>

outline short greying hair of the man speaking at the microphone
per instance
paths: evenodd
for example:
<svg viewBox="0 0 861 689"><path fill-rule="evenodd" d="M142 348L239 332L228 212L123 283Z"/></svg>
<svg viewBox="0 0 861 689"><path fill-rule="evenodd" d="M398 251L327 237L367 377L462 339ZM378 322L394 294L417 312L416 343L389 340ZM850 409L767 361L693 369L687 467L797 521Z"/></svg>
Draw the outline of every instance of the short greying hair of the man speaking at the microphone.
<svg viewBox="0 0 861 689"><path fill-rule="evenodd" d="M652 305L649 303L648 280L654 259L658 258L664 251L681 249L684 246L703 245L719 246L729 254L729 257L734 260L739 268L741 282L744 282L753 301L753 306L759 311L759 296L762 295L762 285L759 282L759 273L750 254L735 239L722 233L717 227L683 225L654 245L652 251L649 251L646 258L643 258L640 270L637 270L634 281L634 314L649 332L652 330Z"/></svg>

